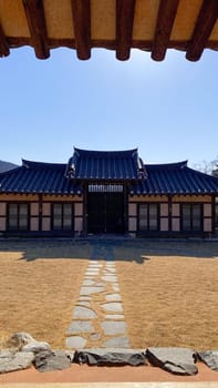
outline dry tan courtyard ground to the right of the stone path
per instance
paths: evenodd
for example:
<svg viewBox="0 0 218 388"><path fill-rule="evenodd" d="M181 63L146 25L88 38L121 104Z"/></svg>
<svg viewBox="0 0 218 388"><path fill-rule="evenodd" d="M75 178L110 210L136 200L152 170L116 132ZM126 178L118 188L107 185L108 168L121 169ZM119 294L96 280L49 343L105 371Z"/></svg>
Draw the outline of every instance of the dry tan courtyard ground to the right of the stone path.
<svg viewBox="0 0 218 388"><path fill-rule="evenodd" d="M168 255L148 246L142 261L117 261L132 347L218 349L218 244L179 245L181 254L175 243Z"/></svg>

